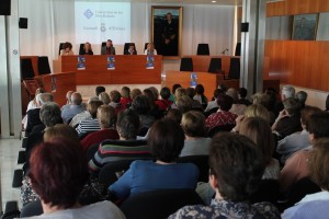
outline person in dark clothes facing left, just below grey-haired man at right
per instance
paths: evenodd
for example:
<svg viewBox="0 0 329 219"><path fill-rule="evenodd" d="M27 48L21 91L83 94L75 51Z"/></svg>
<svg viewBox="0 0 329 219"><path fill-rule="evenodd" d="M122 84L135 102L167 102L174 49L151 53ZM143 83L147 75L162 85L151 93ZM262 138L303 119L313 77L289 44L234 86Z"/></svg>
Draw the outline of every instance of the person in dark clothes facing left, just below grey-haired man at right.
<svg viewBox="0 0 329 219"><path fill-rule="evenodd" d="M290 97L283 101L283 106L284 110L280 112L272 125L272 130L277 135L279 139L302 130L299 101Z"/></svg>

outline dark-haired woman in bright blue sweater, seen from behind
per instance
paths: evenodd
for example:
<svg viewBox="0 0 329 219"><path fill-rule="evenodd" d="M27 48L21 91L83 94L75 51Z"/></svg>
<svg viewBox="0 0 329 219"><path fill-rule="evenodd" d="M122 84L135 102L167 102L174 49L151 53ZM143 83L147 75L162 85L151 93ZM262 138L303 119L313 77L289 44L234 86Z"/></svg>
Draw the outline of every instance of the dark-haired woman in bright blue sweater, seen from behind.
<svg viewBox="0 0 329 219"><path fill-rule="evenodd" d="M156 161L134 161L131 169L110 186L114 199L156 189L196 187L197 168L192 163L177 163L184 146L184 132L175 122L156 122L148 146Z"/></svg>

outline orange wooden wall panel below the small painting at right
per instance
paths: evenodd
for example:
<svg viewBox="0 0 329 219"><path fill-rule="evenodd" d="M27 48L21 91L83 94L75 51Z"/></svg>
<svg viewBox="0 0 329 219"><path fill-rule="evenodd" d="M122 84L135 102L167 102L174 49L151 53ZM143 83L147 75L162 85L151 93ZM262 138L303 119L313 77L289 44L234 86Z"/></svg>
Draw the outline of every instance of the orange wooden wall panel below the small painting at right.
<svg viewBox="0 0 329 219"><path fill-rule="evenodd" d="M270 79L328 91L329 42L265 41Z"/></svg>

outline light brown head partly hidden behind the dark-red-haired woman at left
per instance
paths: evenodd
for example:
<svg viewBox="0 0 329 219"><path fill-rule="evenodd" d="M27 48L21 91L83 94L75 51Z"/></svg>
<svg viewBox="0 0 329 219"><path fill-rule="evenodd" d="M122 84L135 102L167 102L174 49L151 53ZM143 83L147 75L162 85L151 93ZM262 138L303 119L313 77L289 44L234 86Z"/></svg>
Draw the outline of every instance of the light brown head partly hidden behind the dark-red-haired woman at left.
<svg viewBox="0 0 329 219"><path fill-rule="evenodd" d="M44 141L52 141L57 138L69 139L75 143L79 143L79 136L76 129L66 124L56 124L45 129Z"/></svg>

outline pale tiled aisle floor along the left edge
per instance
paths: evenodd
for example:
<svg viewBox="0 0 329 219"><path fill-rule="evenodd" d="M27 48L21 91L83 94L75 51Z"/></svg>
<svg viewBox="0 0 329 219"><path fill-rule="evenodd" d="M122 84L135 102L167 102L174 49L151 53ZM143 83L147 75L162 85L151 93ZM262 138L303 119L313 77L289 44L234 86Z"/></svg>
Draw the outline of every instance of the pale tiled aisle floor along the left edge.
<svg viewBox="0 0 329 219"><path fill-rule="evenodd" d="M20 188L12 188L11 184L14 170L22 168L22 165L18 165L18 154L21 146L22 141L19 139L0 140L1 195L3 210L8 200L20 200ZM19 205L21 206L20 201Z"/></svg>

